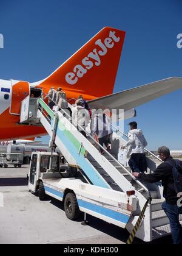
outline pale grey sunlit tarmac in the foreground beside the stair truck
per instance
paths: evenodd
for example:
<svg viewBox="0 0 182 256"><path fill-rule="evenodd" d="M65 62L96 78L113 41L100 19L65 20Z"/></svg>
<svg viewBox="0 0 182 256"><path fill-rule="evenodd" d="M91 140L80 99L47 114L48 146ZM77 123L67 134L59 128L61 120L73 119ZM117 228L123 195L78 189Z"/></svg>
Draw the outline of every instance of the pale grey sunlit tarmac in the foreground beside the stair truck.
<svg viewBox="0 0 182 256"><path fill-rule="evenodd" d="M29 192L29 166L0 168L0 244L125 244L127 230L87 216L88 226L82 226L84 216L70 221L62 202L49 197L41 202ZM135 244L144 242L134 240ZM171 243L170 236L152 243Z"/></svg>

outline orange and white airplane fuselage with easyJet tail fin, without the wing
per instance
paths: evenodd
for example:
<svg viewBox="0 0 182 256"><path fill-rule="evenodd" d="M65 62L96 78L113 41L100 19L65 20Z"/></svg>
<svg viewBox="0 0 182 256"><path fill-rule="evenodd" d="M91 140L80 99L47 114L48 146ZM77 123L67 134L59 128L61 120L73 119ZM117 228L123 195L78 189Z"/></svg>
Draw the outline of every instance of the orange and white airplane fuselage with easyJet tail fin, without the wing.
<svg viewBox="0 0 182 256"><path fill-rule="evenodd" d="M43 127L19 124L21 102L32 94L38 98L38 90L47 94L51 87L61 87L68 100L83 95L84 99L91 101L112 94L125 34L104 27L49 77L33 84L0 80L0 141L47 134Z"/></svg>

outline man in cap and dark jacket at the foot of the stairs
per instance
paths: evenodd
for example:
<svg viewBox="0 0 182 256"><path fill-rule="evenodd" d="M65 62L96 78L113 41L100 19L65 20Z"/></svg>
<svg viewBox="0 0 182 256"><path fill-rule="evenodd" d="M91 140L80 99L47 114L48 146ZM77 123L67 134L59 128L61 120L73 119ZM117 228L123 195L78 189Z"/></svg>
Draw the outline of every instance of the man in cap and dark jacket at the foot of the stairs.
<svg viewBox="0 0 182 256"><path fill-rule="evenodd" d="M169 218L172 239L174 244L182 244L182 227L179 221L182 206L178 205L178 194L182 192L182 162L174 160L166 146L160 147L158 154L163 163L158 166L153 174L133 172L133 177L141 182L155 183L162 181L163 196L166 199L163 203L163 210Z"/></svg>

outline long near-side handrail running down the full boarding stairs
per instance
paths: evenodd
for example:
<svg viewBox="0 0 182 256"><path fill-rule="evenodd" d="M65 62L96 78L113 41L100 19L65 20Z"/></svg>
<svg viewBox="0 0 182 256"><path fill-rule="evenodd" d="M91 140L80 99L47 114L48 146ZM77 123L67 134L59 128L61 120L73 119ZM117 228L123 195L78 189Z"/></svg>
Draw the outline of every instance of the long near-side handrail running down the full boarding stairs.
<svg viewBox="0 0 182 256"><path fill-rule="evenodd" d="M43 93L43 94L45 94L46 98L49 98L56 106L58 106L58 104L56 104L56 102L53 101L53 99L50 98L46 93ZM59 106L58 106L58 107L59 107ZM74 120L71 116L69 116L69 114L64 110L64 108L61 108L61 111L64 112L64 114L65 114L69 119L72 120L72 123L76 124L75 120ZM131 174L120 162L118 162L118 160L116 160L116 158L113 157L113 155L111 155L106 149L104 149L104 147L101 146L101 144L99 144L98 141L96 141L95 138L93 138L92 135L90 135L89 132L87 132L83 127L79 126L78 124L76 124L76 127L79 127L79 129L83 130L83 132L85 132L85 133L99 146L99 148L103 149L103 151L104 151L107 155L109 155L110 158L112 158L119 166L121 166L121 168L122 168L125 172L127 172L127 174L129 174L130 177L132 177L132 180L135 181L136 183L138 183L138 185L140 185L140 187L142 187L142 188L146 191L147 195L149 196L148 198L151 197L150 191L143 185L143 183L141 183L139 180L136 180L135 177L133 177L132 174ZM120 172L120 174L123 175L121 172Z"/></svg>

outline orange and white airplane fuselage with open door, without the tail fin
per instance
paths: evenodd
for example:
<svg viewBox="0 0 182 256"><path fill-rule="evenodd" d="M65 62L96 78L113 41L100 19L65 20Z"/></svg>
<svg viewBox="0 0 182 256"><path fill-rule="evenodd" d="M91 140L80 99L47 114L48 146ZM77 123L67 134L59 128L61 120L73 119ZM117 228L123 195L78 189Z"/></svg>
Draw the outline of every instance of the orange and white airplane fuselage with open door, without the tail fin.
<svg viewBox="0 0 182 256"><path fill-rule="evenodd" d="M51 85L47 85L46 88L41 88L42 93L47 94L50 87ZM19 124L21 102L27 96L31 96L32 92L34 93L33 90L38 90L38 87L29 84L29 82L0 80L0 141L25 139L47 134L43 127ZM72 90L68 90L66 93L68 100L78 97L78 93ZM86 94L84 96L88 100L95 99L94 96Z"/></svg>

